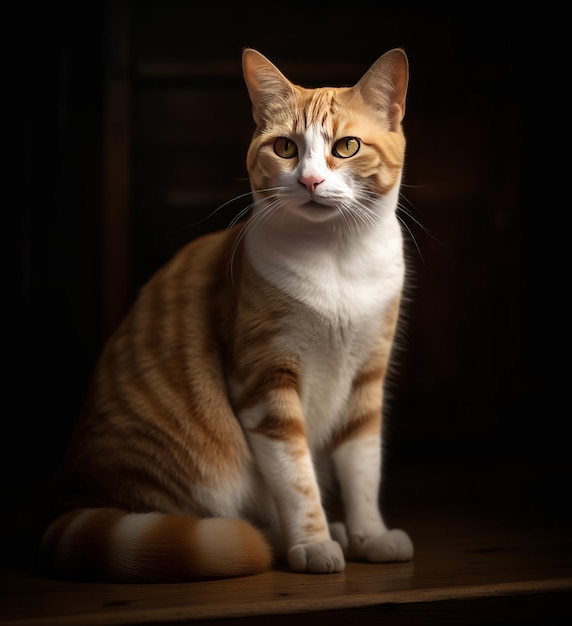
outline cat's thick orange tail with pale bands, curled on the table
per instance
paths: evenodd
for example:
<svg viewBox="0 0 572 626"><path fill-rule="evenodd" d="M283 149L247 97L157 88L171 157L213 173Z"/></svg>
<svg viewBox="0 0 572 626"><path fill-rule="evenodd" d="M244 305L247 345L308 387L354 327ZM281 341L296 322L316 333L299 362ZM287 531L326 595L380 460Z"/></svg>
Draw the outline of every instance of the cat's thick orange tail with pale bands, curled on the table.
<svg viewBox="0 0 572 626"><path fill-rule="evenodd" d="M52 575L109 582L184 582L258 574L272 555L241 519L78 509L53 521L41 546Z"/></svg>

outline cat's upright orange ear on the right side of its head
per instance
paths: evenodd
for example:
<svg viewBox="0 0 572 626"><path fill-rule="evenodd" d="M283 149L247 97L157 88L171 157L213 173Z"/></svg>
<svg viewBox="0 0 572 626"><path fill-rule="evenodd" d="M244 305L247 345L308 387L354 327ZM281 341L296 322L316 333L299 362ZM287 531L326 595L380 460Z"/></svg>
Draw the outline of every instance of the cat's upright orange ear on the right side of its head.
<svg viewBox="0 0 572 626"><path fill-rule="evenodd" d="M394 48L369 68L354 89L369 106L384 111L394 129L405 115L408 82L407 55L401 48Z"/></svg>

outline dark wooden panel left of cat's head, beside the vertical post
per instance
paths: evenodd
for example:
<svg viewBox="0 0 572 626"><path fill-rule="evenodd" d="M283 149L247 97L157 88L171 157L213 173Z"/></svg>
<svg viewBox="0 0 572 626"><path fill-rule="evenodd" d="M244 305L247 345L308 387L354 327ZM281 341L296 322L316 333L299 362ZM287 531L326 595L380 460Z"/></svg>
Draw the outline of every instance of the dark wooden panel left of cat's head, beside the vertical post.
<svg viewBox="0 0 572 626"><path fill-rule="evenodd" d="M140 88L133 125L132 289L250 202L254 129L245 89Z"/></svg>

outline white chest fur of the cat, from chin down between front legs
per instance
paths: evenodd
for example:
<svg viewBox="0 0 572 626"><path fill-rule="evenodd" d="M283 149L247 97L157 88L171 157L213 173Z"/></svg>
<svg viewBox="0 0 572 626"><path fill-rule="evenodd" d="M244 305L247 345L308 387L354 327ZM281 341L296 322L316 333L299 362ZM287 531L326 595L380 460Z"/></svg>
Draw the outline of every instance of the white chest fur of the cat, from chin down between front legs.
<svg viewBox="0 0 572 626"><path fill-rule="evenodd" d="M276 341L297 352L311 447L343 414L352 381L381 332L384 312L403 287L403 241L395 215L398 186L371 206L367 228L347 220L312 222L287 204L246 234L258 273L293 302Z"/></svg>

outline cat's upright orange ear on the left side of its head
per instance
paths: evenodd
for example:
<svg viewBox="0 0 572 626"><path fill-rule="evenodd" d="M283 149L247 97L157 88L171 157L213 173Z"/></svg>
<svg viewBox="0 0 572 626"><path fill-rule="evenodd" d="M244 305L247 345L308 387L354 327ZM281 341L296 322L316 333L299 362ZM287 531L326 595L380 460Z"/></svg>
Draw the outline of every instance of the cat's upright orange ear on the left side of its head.
<svg viewBox="0 0 572 626"><path fill-rule="evenodd" d="M252 48L242 53L242 71L252 102L252 116L264 127L272 119L274 103L294 97L294 85L263 54Z"/></svg>

